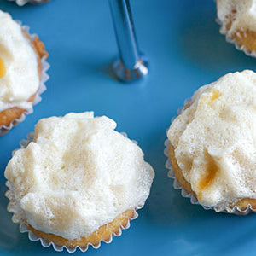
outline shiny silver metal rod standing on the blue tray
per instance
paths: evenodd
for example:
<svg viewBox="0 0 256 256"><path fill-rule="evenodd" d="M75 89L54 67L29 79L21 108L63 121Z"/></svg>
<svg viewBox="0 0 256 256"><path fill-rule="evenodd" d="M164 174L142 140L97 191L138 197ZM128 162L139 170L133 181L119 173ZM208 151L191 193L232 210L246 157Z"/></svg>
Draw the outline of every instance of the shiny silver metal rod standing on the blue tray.
<svg viewBox="0 0 256 256"><path fill-rule="evenodd" d="M148 74L148 61L138 49L129 0L109 0L109 5L119 48L113 71L124 82L141 79Z"/></svg>

